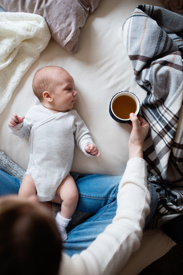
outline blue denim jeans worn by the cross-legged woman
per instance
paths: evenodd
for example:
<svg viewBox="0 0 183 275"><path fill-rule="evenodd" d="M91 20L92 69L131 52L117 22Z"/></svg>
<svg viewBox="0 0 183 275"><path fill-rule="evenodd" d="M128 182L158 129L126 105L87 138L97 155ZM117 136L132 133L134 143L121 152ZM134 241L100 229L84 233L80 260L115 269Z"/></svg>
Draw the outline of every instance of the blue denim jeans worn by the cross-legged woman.
<svg viewBox="0 0 183 275"><path fill-rule="evenodd" d="M81 253L105 230L106 226L112 223L116 215L117 192L121 178L122 176L110 175L79 175L77 177L75 180L79 192L77 210L94 213L94 215L68 232L67 240L63 243L66 254L72 256L75 253ZM18 194L19 188L18 179L0 170L0 196ZM145 226L154 214L157 202L156 191L151 185L151 210L145 219Z"/></svg>

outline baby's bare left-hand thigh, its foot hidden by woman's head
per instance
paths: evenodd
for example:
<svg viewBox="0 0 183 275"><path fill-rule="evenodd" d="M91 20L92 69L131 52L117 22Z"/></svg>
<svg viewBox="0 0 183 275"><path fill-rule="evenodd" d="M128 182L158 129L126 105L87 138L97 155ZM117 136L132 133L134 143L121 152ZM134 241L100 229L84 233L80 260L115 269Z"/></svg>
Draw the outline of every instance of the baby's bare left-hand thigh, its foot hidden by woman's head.
<svg viewBox="0 0 183 275"><path fill-rule="evenodd" d="M36 196L36 192L37 191L34 180L31 178L30 175L24 175L23 181L20 185L18 196L25 199L33 195Z"/></svg>

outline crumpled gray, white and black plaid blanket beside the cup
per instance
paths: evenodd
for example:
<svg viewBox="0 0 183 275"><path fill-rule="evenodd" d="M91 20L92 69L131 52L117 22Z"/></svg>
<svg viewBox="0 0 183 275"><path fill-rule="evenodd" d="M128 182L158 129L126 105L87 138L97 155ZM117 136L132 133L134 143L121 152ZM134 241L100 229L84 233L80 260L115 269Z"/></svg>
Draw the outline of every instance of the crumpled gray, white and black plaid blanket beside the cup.
<svg viewBox="0 0 183 275"><path fill-rule="evenodd" d="M139 5L119 31L134 69L134 80L147 95L143 117L150 131L143 152L158 194L150 227L183 214L183 16Z"/></svg>

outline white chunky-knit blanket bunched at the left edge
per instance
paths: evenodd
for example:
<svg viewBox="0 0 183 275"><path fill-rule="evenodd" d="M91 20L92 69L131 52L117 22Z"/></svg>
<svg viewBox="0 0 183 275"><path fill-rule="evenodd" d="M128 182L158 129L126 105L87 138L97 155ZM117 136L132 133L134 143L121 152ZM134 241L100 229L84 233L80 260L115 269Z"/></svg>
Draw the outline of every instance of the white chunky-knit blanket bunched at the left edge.
<svg viewBox="0 0 183 275"><path fill-rule="evenodd" d="M0 13L0 113L50 37L48 25L40 15Z"/></svg>

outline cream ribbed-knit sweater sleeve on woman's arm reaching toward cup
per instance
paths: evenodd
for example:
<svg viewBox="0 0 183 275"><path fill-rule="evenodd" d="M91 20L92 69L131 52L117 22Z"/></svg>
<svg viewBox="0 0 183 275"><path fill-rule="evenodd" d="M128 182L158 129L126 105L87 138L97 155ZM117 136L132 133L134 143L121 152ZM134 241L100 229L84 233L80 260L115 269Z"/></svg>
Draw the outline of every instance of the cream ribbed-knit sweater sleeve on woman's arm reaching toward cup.
<svg viewBox="0 0 183 275"><path fill-rule="evenodd" d="M138 250L151 197L147 190L147 171L142 158L127 162L117 195L113 223L80 255L63 253L60 275L115 275L132 252Z"/></svg>

